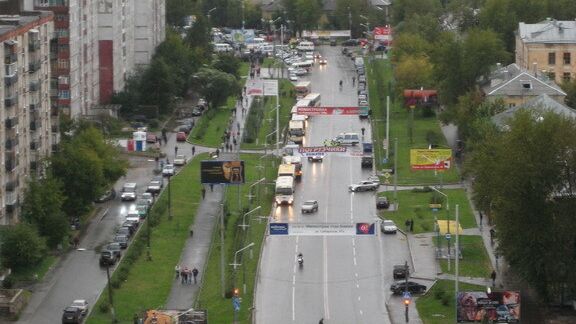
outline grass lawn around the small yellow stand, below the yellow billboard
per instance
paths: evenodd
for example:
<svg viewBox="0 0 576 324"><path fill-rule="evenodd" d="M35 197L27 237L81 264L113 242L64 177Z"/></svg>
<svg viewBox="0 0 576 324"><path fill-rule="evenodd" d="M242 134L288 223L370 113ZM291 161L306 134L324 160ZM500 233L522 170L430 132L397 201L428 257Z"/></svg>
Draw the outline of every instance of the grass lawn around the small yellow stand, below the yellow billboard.
<svg viewBox="0 0 576 324"><path fill-rule="evenodd" d="M466 192L462 189L444 189L442 190L448 195L450 202L449 218L454 220L454 213L456 205L459 205L460 226L462 228L476 227L476 220L472 214L470 203ZM430 198L435 191L430 192L414 192L411 190L398 191L398 210L387 211L380 210L381 217L393 220L398 227L404 229L404 223L407 219L414 220L414 233L424 233L434 231L434 216L438 219L447 219L447 212L445 204L443 208L437 212L430 209ZM381 193L380 195L384 195ZM393 201L394 193L387 192L390 201ZM434 215L436 214L436 215Z"/></svg>

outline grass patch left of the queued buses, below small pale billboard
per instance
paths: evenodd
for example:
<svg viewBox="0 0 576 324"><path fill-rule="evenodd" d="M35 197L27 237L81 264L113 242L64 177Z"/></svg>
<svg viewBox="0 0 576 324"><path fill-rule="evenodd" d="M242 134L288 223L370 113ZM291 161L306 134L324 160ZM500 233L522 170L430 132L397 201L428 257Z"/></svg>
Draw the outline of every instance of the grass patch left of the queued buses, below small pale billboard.
<svg viewBox="0 0 576 324"><path fill-rule="evenodd" d="M290 110L296 99L294 97L294 85L288 80L280 80L280 136L282 137L282 130L284 130L288 121L291 118ZM246 127L254 127L258 131L258 137L253 143L242 142L242 149L264 149L266 135L271 134L276 129L276 98L275 97L265 97L266 99L262 101L261 97L256 97L253 101L252 108L250 109L250 116L246 123ZM264 104L264 107L257 106ZM263 118L259 119L257 117L256 109L263 109ZM254 121L252 121L254 120ZM244 139L246 140L246 138ZM276 134L268 136L268 146L273 147L276 142Z"/></svg>

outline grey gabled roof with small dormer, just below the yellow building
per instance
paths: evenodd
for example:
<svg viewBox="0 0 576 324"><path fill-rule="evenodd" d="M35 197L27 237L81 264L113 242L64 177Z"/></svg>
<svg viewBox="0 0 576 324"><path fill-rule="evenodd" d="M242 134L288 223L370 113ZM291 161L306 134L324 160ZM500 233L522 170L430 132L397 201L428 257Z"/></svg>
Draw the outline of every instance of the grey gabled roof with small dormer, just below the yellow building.
<svg viewBox="0 0 576 324"><path fill-rule="evenodd" d="M554 81L536 71L529 72L516 63L505 67L497 67L488 77L486 85L482 86L486 96L566 96Z"/></svg>

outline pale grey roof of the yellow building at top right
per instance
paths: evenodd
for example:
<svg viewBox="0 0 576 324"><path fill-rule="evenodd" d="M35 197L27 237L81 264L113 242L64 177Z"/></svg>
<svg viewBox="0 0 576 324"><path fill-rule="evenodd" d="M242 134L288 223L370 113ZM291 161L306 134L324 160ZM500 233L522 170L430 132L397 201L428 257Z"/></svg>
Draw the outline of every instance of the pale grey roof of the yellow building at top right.
<svg viewBox="0 0 576 324"><path fill-rule="evenodd" d="M518 24L524 43L576 44L576 21L548 19L537 24Z"/></svg>

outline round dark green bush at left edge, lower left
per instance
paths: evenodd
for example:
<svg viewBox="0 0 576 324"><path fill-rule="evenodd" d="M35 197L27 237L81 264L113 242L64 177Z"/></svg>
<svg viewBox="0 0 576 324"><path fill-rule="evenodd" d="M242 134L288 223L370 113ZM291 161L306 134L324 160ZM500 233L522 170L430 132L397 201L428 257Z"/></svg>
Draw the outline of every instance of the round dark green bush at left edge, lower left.
<svg viewBox="0 0 576 324"><path fill-rule="evenodd" d="M26 223L6 228L2 232L2 266L10 269L24 269L34 266L46 253L46 244L35 229Z"/></svg>

